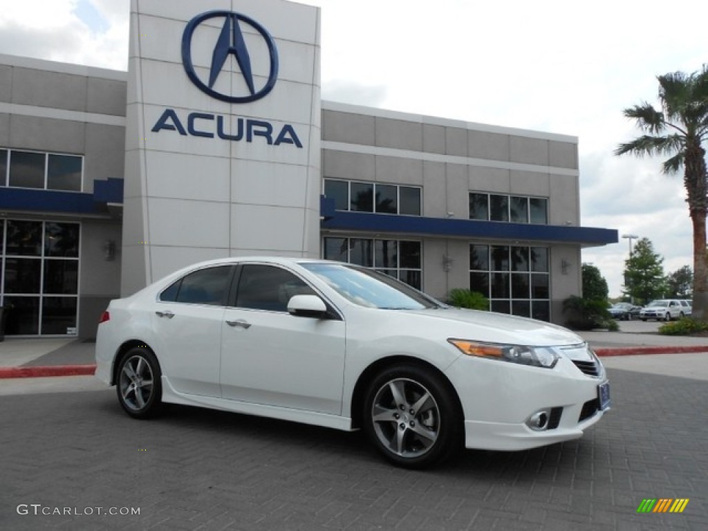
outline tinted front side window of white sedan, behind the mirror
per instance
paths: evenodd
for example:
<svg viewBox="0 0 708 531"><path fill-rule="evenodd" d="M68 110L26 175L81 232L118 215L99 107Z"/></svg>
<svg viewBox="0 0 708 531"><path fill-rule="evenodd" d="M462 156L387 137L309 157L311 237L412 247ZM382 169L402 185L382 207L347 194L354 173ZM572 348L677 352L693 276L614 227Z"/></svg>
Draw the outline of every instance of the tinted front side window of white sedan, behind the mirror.
<svg viewBox="0 0 708 531"><path fill-rule="evenodd" d="M244 265L236 295L236 307L287 312L294 295L315 295L304 280L273 265Z"/></svg>

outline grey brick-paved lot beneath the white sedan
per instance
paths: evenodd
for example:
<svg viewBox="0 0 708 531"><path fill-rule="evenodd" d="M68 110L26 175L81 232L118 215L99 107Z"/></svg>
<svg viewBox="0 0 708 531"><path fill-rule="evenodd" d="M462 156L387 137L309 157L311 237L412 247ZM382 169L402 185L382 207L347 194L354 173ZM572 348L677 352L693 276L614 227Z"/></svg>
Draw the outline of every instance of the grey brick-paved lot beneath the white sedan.
<svg viewBox="0 0 708 531"><path fill-rule="evenodd" d="M428 472L360 433L181 406L134 421L113 389L0 396L0 528L707 529L708 382L609 372L614 409L583 439ZM690 501L638 514L645 498Z"/></svg>

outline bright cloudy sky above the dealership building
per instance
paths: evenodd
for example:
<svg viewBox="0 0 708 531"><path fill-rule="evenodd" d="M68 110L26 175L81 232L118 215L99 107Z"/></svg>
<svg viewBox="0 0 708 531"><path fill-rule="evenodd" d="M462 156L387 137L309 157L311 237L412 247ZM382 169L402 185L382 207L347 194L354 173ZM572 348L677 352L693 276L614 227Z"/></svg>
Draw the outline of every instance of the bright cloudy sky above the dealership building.
<svg viewBox="0 0 708 531"><path fill-rule="evenodd" d="M326 100L578 137L581 225L620 235L582 253L611 297L622 235L648 238L667 274L692 267L682 175L613 152L640 134L622 110L656 105L656 76L708 63L708 2L300 3L322 8ZM130 0L0 0L0 53L127 70L129 11Z"/></svg>

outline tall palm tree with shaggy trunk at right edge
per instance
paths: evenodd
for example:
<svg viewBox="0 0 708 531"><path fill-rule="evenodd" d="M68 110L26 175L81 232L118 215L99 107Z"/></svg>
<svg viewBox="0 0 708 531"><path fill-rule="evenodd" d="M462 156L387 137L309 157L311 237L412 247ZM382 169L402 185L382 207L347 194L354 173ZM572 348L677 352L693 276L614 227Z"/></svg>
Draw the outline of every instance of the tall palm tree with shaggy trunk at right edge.
<svg viewBox="0 0 708 531"><path fill-rule="evenodd" d="M708 319L708 260L706 255L706 151L708 139L708 65L693 74L673 72L657 76L657 110L649 103L624 109L624 116L636 121L644 135L619 144L615 155L670 156L663 173L678 173L683 167L683 185L693 224L693 316Z"/></svg>

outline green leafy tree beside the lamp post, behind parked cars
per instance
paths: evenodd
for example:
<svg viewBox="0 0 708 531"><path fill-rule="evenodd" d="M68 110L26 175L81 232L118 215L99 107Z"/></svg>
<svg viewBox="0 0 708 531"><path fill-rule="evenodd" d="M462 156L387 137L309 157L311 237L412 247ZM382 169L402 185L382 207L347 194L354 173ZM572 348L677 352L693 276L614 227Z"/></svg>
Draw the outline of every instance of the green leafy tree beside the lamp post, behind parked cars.
<svg viewBox="0 0 708 531"><path fill-rule="evenodd" d="M648 238L636 242L632 256L624 261L624 294L646 304L667 292L663 258L654 252Z"/></svg>

